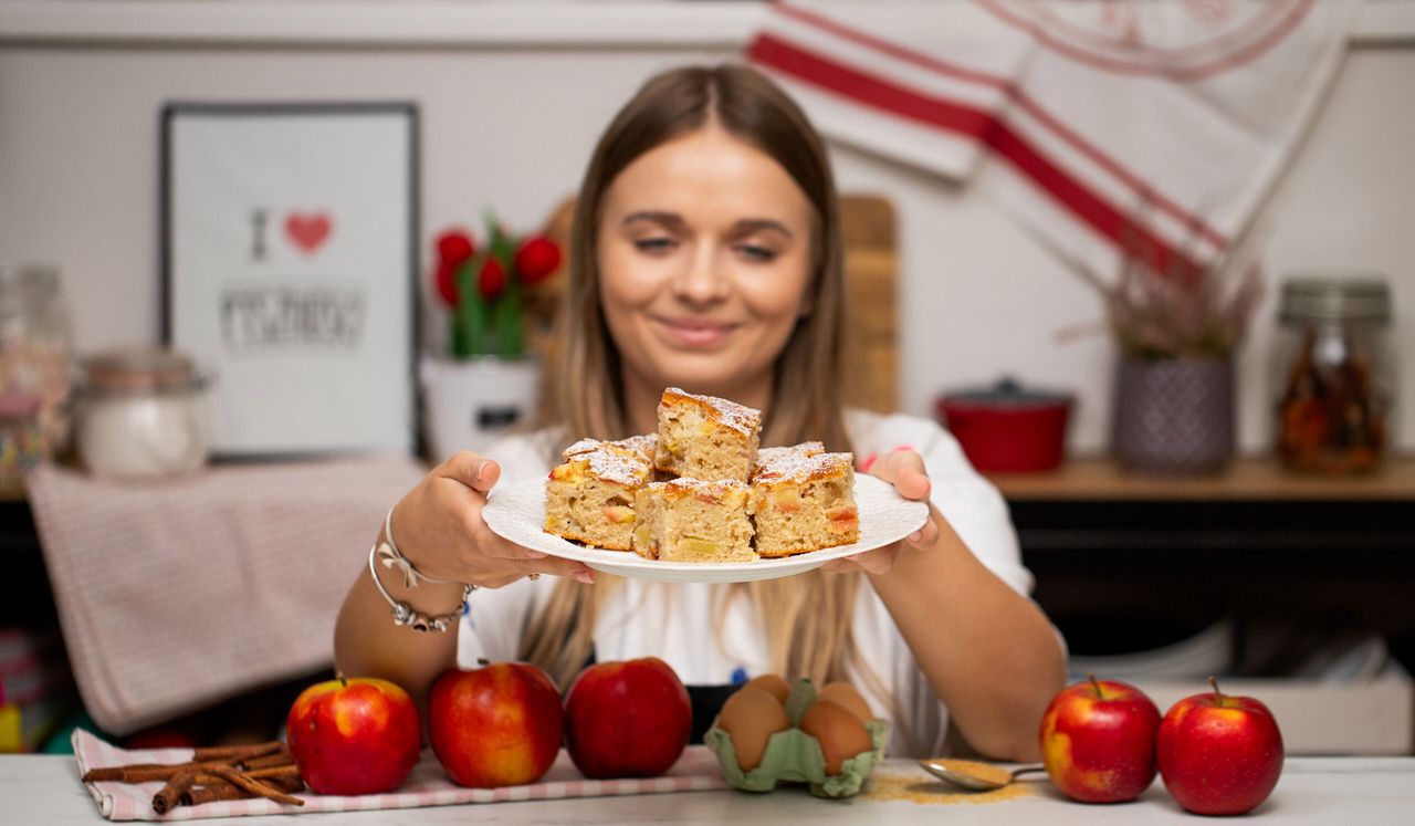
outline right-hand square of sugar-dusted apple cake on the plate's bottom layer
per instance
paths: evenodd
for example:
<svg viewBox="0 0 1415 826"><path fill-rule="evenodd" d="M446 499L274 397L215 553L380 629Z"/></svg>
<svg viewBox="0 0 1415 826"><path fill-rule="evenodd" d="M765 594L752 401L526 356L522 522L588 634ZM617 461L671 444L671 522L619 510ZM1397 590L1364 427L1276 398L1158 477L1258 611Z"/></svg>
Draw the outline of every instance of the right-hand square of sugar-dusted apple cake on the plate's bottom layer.
<svg viewBox="0 0 1415 826"><path fill-rule="evenodd" d="M751 505L761 557L792 556L860 537L855 457L798 450L804 447L782 448L753 475Z"/></svg>

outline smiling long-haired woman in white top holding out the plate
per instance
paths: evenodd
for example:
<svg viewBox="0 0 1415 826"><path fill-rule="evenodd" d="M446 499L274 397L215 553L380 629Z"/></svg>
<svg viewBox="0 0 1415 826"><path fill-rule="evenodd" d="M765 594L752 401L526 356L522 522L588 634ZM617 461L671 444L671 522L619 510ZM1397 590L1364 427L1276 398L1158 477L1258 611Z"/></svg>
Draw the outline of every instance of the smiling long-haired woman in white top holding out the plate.
<svg viewBox="0 0 1415 826"><path fill-rule="evenodd" d="M449 458L392 512L402 554L446 583L408 588L379 570L389 594L447 614L468 583L470 611L449 634L415 634L389 620L364 567L338 620L340 669L419 700L478 656L535 662L562 687L591 658L648 655L691 689L768 672L849 679L893 717L896 754L937 754L951 719L983 754L1036 758L1064 653L1024 595L1006 508L937 424L845 409L843 310L833 181L799 109L741 66L651 79L580 190L542 427ZM928 523L822 570L736 586L597 577L487 528L487 494L543 478L574 438L652 433L665 386L761 409L763 446L879 454L869 472L927 498ZM695 690L695 716L723 696Z"/></svg>

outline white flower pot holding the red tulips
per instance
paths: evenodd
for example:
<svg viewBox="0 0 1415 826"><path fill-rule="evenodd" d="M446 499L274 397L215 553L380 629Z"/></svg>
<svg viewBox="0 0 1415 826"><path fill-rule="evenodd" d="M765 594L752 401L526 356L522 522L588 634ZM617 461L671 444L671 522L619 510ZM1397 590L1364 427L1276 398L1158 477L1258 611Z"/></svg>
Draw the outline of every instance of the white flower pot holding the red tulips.
<svg viewBox="0 0 1415 826"><path fill-rule="evenodd" d="M423 420L433 461L458 450L485 451L535 412L541 362L483 356L423 356Z"/></svg>

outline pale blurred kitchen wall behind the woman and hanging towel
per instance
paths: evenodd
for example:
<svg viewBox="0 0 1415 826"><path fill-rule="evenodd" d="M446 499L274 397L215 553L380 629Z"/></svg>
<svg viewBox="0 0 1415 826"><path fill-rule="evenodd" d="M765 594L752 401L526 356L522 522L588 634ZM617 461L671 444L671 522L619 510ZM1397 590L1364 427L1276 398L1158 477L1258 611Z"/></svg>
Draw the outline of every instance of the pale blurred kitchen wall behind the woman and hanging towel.
<svg viewBox="0 0 1415 826"><path fill-rule="evenodd" d="M1415 448L1415 3L1375 0L1265 211L1268 280L1361 269L1395 291ZM158 335L158 112L171 100L413 100L430 239L495 206L532 228L649 74L732 59L754 3L197 4L0 1L0 252L62 270L81 349ZM1098 297L990 202L832 147L841 188L899 215L904 410L1012 373L1080 396L1071 447L1105 444L1111 342L1058 344ZM426 248L426 245L424 245ZM1240 443L1271 437L1275 289L1240 365ZM429 304L430 306L430 304ZM440 331L443 324L429 330Z"/></svg>

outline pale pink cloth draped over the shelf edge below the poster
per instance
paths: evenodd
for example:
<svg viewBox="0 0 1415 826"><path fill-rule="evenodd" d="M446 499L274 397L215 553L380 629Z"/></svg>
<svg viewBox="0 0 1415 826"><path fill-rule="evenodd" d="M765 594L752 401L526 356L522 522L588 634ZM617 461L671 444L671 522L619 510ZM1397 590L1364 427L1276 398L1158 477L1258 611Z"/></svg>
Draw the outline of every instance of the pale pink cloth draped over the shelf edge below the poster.
<svg viewBox="0 0 1415 826"><path fill-rule="evenodd" d="M424 472L403 455L163 482L35 468L30 506L85 709L127 734L330 666L383 513Z"/></svg>

